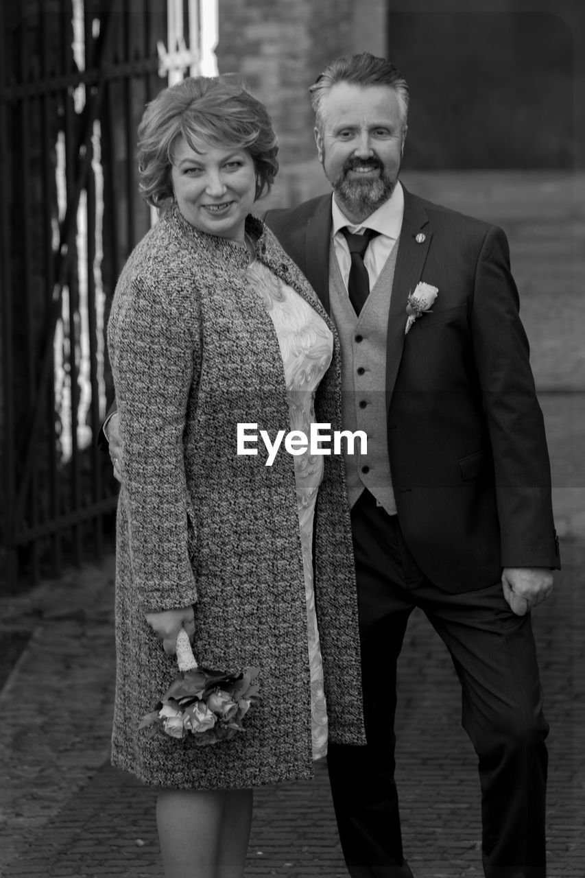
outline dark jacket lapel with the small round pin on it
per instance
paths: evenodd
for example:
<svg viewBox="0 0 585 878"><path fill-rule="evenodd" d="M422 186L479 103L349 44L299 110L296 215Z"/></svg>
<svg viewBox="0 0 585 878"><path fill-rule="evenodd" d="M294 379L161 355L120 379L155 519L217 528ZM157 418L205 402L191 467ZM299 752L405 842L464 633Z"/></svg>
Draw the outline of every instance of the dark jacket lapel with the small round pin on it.
<svg viewBox="0 0 585 878"><path fill-rule="evenodd" d="M404 186L402 188L404 189L404 217L398 255L396 256L386 339L386 408L390 406L404 349L408 294L415 291L415 286L421 279L432 237L429 227L423 230L423 227L427 226L429 218L422 203L418 198L410 195ZM424 241L417 242L417 234L423 234Z"/></svg>

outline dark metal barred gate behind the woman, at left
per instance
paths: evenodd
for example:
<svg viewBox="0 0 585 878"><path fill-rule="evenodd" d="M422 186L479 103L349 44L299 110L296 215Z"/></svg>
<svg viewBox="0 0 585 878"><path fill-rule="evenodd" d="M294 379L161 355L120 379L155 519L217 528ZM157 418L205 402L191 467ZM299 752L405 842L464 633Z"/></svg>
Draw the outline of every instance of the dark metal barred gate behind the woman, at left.
<svg viewBox="0 0 585 878"><path fill-rule="evenodd" d="M0 561L9 587L87 551L99 556L112 531L117 485L95 437L112 398L108 306L151 222L137 190L136 127L169 81L201 69L204 2L0 4Z"/></svg>

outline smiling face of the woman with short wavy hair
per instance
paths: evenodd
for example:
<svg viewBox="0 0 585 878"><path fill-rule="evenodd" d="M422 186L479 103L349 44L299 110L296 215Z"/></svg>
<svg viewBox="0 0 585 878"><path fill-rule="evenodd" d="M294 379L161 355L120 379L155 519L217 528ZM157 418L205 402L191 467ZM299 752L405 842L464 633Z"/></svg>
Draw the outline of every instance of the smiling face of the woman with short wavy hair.
<svg viewBox="0 0 585 878"><path fill-rule="evenodd" d="M244 221L256 198L256 170L245 148L191 149L184 137L173 150L170 177L184 219L200 232L244 242Z"/></svg>

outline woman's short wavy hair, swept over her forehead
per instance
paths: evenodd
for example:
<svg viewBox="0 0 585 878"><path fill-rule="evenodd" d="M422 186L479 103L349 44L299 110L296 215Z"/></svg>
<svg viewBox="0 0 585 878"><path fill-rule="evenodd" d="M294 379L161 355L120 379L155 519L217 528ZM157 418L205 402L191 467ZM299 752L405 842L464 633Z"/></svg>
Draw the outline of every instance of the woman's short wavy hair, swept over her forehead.
<svg viewBox="0 0 585 878"><path fill-rule="evenodd" d="M173 197L170 171L180 137L191 149L201 140L213 147L246 148L256 169L256 198L271 190L278 171L277 136L266 107L240 76L191 76L147 104L138 126L138 169L149 205L164 207Z"/></svg>

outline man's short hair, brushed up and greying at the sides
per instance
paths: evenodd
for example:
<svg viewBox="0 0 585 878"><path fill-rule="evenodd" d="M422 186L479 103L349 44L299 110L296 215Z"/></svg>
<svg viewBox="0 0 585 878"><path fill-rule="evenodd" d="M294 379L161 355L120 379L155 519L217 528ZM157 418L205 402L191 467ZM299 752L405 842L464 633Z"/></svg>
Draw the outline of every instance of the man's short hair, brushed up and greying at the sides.
<svg viewBox="0 0 585 878"><path fill-rule="evenodd" d="M323 97L337 83L350 83L366 87L368 85L388 85L396 91L401 107L402 130L406 128L408 116L408 83L400 70L386 58L377 58L369 52L336 58L324 68L310 87L316 125L322 125Z"/></svg>

